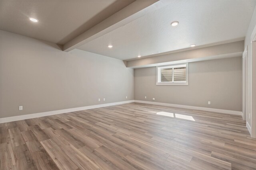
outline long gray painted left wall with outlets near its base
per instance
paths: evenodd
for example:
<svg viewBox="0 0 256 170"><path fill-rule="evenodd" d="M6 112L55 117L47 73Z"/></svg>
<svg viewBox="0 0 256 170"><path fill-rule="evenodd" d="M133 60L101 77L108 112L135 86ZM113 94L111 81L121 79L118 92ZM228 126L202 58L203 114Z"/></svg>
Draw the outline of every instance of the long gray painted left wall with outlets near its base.
<svg viewBox="0 0 256 170"><path fill-rule="evenodd" d="M121 60L6 31L0 37L0 117L134 100L134 70Z"/></svg>

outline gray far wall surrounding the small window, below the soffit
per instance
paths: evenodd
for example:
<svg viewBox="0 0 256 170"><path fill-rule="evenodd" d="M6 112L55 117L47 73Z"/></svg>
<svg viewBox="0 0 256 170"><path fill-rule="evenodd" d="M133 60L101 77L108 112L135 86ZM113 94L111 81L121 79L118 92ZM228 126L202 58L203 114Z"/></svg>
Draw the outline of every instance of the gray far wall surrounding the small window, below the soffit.
<svg viewBox="0 0 256 170"><path fill-rule="evenodd" d="M242 57L189 63L188 86L157 86L156 67L135 69L134 100L152 98L154 102L242 111Z"/></svg>

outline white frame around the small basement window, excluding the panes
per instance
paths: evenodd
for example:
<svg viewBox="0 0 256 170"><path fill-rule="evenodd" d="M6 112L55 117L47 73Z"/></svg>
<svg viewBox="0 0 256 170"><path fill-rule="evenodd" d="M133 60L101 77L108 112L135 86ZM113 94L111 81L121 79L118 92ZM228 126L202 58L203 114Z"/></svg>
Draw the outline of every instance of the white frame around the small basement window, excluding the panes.
<svg viewBox="0 0 256 170"><path fill-rule="evenodd" d="M161 70L166 68L178 68L186 66L186 81L182 82L162 82L161 80ZM173 64L167 66L157 66L156 67L156 85L188 85L188 63L183 64Z"/></svg>

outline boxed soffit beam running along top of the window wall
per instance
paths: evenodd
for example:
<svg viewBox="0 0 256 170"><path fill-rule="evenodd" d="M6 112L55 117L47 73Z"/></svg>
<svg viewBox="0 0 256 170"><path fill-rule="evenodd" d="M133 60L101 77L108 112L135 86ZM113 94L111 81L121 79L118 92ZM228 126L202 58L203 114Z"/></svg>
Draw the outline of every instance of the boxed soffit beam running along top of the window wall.
<svg viewBox="0 0 256 170"><path fill-rule="evenodd" d="M158 55L144 59L127 61L129 68L144 68L169 64L189 63L230 57L241 57L244 52L244 41L237 41L210 47L180 51L176 53Z"/></svg>

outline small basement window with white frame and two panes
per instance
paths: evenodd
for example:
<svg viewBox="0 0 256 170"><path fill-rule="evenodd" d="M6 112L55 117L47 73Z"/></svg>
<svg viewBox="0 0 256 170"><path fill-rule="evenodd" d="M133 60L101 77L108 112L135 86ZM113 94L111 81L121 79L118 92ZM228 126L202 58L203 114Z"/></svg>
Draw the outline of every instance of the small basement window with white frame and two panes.
<svg viewBox="0 0 256 170"><path fill-rule="evenodd" d="M188 63L158 66L156 85L188 85Z"/></svg>

